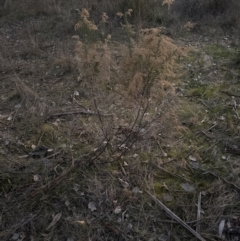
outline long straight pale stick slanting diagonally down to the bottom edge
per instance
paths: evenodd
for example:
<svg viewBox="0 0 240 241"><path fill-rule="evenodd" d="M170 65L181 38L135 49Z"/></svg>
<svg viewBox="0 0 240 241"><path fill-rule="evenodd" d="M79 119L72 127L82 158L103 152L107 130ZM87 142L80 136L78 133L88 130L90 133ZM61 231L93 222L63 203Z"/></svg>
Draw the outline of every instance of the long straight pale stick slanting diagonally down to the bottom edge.
<svg viewBox="0 0 240 241"><path fill-rule="evenodd" d="M178 223L180 223L184 228L186 228L189 232L191 232L196 238L201 241L206 241L202 236L196 233L189 225L187 225L181 218L179 218L175 213L173 213L169 208L167 208L160 200L154 197L151 193L147 191L147 193L151 196L151 198L173 219L175 219Z"/></svg>

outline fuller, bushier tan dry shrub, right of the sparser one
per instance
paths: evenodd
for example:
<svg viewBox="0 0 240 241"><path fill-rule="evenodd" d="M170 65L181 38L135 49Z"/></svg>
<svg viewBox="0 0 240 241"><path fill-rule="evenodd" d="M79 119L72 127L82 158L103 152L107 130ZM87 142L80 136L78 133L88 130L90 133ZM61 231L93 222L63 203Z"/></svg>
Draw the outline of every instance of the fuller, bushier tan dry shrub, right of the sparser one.
<svg viewBox="0 0 240 241"><path fill-rule="evenodd" d="M139 94L149 96L150 89L154 85L157 88L154 88L151 97L154 92L160 96L161 90L163 92L172 90L173 88L169 88L171 84L166 80L175 78L175 60L183 54L183 49L174 45L170 38L161 35L161 29L142 30L140 41L133 47L131 56L125 54L126 57L121 63L122 74L129 82L129 93L133 96ZM166 85L168 87L163 88Z"/></svg>

